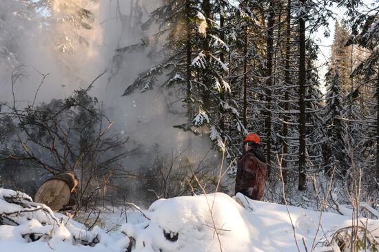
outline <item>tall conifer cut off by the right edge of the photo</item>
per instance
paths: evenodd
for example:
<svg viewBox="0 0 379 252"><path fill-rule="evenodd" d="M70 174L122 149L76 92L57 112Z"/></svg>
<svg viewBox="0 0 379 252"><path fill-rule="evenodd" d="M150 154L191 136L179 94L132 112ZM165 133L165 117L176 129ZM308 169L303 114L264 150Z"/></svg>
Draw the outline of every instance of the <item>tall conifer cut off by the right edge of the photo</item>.
<svg viewBox="0 0 379 252"><path fill-rule="evenodd" d="M376 180L379 180L379 5L373 3L369 10L361 8L364 1L341 1L340 6L347 8L348 22L351 25L351 36L347 45L358 45L367 55L365 59L358 64L351 74L351 78L360 80L356 92L362 101L366 101L367 121L371 122L367 132L367 141L363 149L367 160L375 156L376 162ZM363 10L363 11L362 11ZM370 95L371 93L371 95ZM371 96L371 97L370 97ZM375 103L372 102L374 98ZM362 106L363 107L363 106ZM367 149L376 149L373 154ZM366 165L370 169L371 163ZM377 185L378 182L376 182Z"/></svg>

